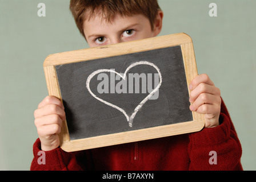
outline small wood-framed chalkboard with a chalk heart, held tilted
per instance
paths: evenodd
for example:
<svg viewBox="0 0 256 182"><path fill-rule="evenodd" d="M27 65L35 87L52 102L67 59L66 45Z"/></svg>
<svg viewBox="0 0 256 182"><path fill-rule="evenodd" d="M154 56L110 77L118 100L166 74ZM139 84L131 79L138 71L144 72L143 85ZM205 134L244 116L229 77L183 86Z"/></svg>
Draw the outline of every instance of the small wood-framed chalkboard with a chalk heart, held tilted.
<svg viewBox="0 0 256 182"><path fill-rule="evenodd" d="M67 152L199 131L189 109L197 76L191 38L183 33L50 55L50 96L65 106L59 134Z"/></svg>

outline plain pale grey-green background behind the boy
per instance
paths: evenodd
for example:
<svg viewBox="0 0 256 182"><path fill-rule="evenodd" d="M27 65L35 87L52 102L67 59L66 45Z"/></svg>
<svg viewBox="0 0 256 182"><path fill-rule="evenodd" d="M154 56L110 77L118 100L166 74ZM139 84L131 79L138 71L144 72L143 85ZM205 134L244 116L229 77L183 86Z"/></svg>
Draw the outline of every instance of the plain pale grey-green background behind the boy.
<svg viewBox="0 0 256 182"><path fill-rule="evenodd" d="M39 17L38 3L46 17ZM217 17L209 4L217 4ZM242 165L256 163L256 1L159 0L161 35L193 39L198 73L221 95L241 141ZM69 0L0 0L0 169L29 170L37 139L34 110L47 96L43 61L51 53L88 48L69 11Z"/></svg>

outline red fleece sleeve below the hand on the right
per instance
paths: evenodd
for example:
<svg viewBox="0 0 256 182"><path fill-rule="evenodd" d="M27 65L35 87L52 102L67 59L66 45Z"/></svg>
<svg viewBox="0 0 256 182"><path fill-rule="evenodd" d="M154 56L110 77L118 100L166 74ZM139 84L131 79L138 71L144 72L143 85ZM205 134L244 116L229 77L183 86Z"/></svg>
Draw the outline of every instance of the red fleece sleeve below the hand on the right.
<svg viewBox="0 0 256 182"><path fill-rule="evenodd" d="M242 170L242 147L222 101L220 125L189 135L190 170Z"/></svg>

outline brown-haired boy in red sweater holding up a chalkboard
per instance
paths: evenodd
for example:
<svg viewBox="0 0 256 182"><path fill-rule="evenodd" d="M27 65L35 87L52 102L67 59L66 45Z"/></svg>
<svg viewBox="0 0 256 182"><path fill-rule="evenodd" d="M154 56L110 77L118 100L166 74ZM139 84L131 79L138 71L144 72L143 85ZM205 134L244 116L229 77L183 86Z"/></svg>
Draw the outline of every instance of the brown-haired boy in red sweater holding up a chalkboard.
<svg viewBox="0 0 256 182"><path fill-rule="evenodd" d="M162 29L157 0L71 0L70 10L90 47L151 38ZM59 148L65 111L61 101L47 96L34 112L39 138L31 170L242 170L241 144L219 89L205 74L189 88L190 110L205 114L202 131L78 152ZM38 164L41 150L45 165Z"/></svg>

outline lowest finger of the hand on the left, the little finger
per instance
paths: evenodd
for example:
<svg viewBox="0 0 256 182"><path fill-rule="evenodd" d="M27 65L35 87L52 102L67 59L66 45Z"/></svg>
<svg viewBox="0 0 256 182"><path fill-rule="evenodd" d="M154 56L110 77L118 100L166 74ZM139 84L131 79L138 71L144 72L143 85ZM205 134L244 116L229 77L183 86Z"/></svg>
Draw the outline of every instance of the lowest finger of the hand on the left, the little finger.
<svg viewBox="0 0 256 182"><path fill-rule="evenodd" d="M58 124L43 125L37 128L37 132L40 137L47 137L61 133L61 127Z"/></svg>

